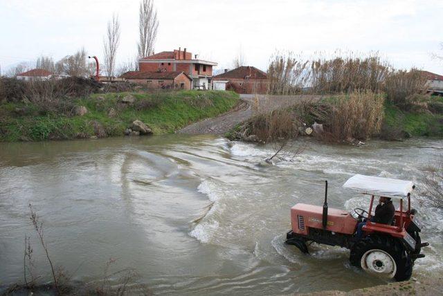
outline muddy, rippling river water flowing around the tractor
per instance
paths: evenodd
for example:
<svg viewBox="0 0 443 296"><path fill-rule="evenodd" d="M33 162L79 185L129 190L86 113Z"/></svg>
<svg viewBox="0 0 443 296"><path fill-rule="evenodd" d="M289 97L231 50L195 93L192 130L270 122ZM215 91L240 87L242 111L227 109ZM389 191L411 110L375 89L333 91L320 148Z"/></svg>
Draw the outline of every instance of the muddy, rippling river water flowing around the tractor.
<svg viewBox="0 0 443 296"><path fill-rule="evenodd" d="M381 284L352 268L345 249L313 245L305 256L284 245L290 207L322 205L325 180L329 207L368 205L367 197L341 187L352 174L416 181L413 207L431 246L413 277L443 271L443 212L419 195L421 171L441 158L442 140L373 140L362 147L303 142L302 154L269 167L257 164L272 147L216 136L1 143L0 285L22 281L26 234L39 281L51 279L29 203L44 221L51 259L74 281L100 281L112 258L109 273L134 268L134 281L159 295Z"/></svg>

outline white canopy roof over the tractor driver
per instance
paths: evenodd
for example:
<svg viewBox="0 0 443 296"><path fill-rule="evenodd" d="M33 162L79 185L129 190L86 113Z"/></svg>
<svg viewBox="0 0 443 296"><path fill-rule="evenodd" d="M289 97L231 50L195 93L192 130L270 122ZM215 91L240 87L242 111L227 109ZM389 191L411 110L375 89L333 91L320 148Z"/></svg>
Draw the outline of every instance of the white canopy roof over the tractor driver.
<svg viewBox="0 0 443 296"><path fill-rule="evenodd" d="M355 175L349 178L343 188L351 189L363 194L404 198L413 191L412 181L403 181L391 178Z"/></svg>

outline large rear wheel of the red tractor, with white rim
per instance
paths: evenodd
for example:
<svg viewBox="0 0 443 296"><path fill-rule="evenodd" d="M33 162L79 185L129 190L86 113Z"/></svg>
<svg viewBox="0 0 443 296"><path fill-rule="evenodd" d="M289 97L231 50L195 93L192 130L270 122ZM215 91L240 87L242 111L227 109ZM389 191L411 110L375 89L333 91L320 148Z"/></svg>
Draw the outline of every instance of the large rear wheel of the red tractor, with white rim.
<svg viewBox="0 0 443 296"><path fill-rule="evenodd" d="M404 246L392 237L368 236L361 239L352 247L350 261L366 272L397 281L410 279L413 272L413 261Z"/></svg>

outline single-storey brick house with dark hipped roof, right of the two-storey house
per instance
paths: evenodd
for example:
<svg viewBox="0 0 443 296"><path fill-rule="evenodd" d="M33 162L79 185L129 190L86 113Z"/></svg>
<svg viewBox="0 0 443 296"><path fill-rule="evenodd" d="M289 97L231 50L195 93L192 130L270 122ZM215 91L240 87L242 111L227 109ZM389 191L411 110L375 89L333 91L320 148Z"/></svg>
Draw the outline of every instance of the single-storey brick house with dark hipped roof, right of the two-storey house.
<svg viewBox="0 0 443 296"><path fill-rule="evenodd" d="M214 81L228 81L226 90L236 93L266 93L268 91L268 75L253 66L240 66L231 71L214 76Z"/></svg>

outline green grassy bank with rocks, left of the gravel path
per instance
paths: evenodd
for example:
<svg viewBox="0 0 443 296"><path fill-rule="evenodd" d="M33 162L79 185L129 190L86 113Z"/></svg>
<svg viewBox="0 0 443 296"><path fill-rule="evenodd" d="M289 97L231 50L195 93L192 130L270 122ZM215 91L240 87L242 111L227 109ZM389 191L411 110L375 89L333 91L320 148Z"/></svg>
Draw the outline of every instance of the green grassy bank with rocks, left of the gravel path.
<svg viewBox="0 0 443 296"><path fill-rule="evenodd" d="M122 102L125 95L132 95L134 102ZM173 133L192 122L224 113L237 102L237 94L222 91L93 94L56 105L3 102L0 141L123 136L134 120L147 124L154 134ZM81 106L87 113L75 115Z"/></svg>

